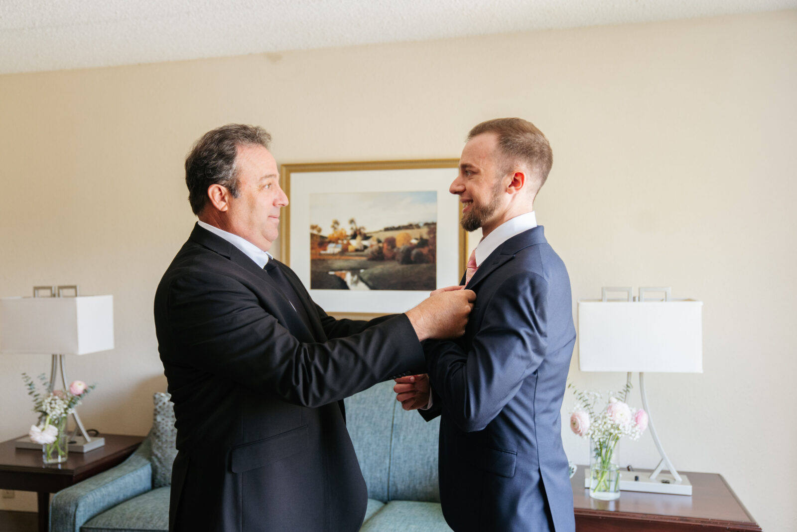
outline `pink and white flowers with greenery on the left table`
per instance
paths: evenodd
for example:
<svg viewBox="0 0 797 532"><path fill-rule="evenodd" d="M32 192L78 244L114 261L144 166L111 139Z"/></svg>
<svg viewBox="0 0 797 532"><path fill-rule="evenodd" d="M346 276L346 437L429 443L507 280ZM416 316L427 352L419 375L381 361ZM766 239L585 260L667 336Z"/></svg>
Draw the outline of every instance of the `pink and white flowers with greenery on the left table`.
<svg viewBox="0 0 797 532"><path fill-rule="evenodd" d="M41 384L48 387L45 374L38 376ZM22 373L22 380L28 388L28 395L33 397L33 412L39 413L38 424L30 427L28 435L33 443L52 445L57 443L58 434L65 428L66 416L75 411L75 407L94 389L94 384L86 386L82 380L73 380L69 390L54 390L42 394L37 390L36 383L26 373Z"/></svg>

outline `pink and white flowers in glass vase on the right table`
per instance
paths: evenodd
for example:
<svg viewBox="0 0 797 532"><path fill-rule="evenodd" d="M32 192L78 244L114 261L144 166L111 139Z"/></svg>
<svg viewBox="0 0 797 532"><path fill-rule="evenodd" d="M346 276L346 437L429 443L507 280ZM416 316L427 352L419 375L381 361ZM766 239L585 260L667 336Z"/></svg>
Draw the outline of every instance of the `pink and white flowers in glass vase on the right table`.
<svg viewBox="0 0 797 532"><path fill-rule="evenodd" d="M614 486L609 485L612 466L614 463L614 450L622 436L630 439L639 439L648 426L647 412L642 408L631 408L626 404L626 397L631 390L631 384L626 384L619 392L609 393L609 400L605 407L599 408L603 395L599 392L580 392L572 384L577 403L570 416L570 429L576 435L589 437L593 443L591 471L593 484L591 491L617 491L619 475L614 475Z"/></svg>

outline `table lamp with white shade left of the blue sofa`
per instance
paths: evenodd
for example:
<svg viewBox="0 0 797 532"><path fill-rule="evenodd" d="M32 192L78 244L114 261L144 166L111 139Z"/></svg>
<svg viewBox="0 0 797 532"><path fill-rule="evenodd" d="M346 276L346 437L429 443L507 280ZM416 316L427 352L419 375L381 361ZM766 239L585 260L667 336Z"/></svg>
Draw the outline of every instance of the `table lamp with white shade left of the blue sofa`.
<svg viewBox="0 0 797 532"><path fill-rule="evenodd" d="M39 297L49 290L50 297ZM61 297L73 290L74 297ZM56 386L58 374L64 390L65 355L84 355L113 349L113 296L79 296L77 286L33 287L33 298L0 299L0 353L51 355L49 391ZM73 413L74 442L69 451L87 452L102 447L104 438L91 438L86 432L77 408ZM28 439L19 439L17 447L41 448Z"/></svg>

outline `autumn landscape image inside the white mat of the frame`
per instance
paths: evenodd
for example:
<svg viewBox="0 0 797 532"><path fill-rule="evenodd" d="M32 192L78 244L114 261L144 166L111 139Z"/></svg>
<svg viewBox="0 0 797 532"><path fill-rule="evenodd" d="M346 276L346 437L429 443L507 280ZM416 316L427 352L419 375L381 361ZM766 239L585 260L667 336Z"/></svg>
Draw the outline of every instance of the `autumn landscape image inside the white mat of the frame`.
<svg viewBox="0 0 797 532"><path fill-rule="evenodd" d="M434 290L437 191L310 194L312 290Z"/></svg>

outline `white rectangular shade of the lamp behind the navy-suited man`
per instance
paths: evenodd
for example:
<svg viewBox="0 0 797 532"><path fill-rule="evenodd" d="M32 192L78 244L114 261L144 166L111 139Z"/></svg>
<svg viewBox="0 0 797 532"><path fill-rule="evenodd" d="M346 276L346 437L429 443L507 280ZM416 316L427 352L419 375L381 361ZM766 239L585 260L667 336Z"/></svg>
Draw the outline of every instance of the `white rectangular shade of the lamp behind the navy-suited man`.
<svg viewBox="0 0 797 532"><path fill-rule="evenodd" d="M579 369L703 372L702 301L579 301Z"/></svg>

